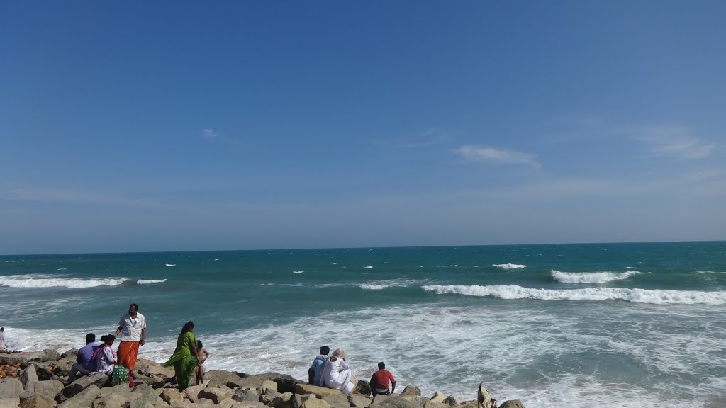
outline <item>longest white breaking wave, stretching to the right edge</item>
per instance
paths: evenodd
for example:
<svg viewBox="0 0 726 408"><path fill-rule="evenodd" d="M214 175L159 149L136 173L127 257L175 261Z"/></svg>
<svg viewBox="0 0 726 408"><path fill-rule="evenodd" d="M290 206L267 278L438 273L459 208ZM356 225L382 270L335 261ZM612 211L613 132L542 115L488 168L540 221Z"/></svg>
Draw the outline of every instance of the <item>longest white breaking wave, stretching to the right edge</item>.
<svg viewBox="0 0 726 408"><path fill-rule="evenodd" d="M584 287L581 289L533 289L517 285L461 286L428 285L423 290L443 295L492 296L502 299L537 299L540 301L628 301L653 304L709 304L726 303L726 292L698 290L645 290L626 287Z"/></svg>

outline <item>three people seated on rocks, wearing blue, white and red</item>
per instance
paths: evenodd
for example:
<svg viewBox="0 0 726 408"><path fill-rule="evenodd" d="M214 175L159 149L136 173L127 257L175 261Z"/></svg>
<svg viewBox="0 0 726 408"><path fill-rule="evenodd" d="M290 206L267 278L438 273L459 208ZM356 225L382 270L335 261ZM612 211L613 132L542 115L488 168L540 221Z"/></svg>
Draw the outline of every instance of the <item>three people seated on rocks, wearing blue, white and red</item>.
<svg viewBox="0 0 726 408"><path fill-rule="evenodd" d="M308 369L308 382L319 387L334 388L348 395L354 393L358 380L346 362L346 352L343 348L336 348L330 354L330 347L322 346L320 354L313 359ZM388 384L391 389L388 389ZM370 378L372 394L391 395L396 389L396 380L390 371L386 370L386 363L378 363L378 371Z"/></svg>

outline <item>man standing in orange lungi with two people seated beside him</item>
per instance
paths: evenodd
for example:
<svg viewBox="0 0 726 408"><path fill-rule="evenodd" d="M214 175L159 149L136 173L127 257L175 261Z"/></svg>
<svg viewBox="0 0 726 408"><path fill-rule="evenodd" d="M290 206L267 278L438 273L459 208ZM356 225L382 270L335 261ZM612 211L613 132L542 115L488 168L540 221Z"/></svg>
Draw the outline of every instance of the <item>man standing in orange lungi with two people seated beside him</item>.
<svg viewBox="0 0 726 408"><path fill-rule="evenodd" d="M119 338L118 349L114 353L113 343ZM94 375L103 372L110 375L111 383L129 383L134 387L130 372L136 366L139 346L146 342L146 318L139 313L139 305L131 303L129 313L118 321L118 328L113 335L102 335L102 344L96 344L96 335L86 335L86 346L78 350L76 363L70 369L68 383L73 383L80 372L82 375Z"/></svg>

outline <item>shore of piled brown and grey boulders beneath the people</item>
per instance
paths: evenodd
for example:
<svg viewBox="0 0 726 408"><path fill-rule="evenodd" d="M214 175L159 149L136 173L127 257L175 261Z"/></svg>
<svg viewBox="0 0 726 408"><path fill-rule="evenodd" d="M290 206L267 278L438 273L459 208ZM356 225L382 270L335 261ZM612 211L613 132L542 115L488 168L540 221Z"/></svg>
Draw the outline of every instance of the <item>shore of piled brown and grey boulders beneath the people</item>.
<svg viewBox="0 0 726 408"><path fill-rule="evenodd" d="M65 385L77 353L73 349L63 354L54 350L0 354L0 408L478 408L476 400L459 401L440 391L421 396L414 385L372 399L370 384L359 381L356 393L345 396L277 372L210 370L203 384L179 392L172 383L173 370L145 359L139 359L131 372L133 389L126 384L105 386L105 374L82 376ZM477 388L472 384L472 396ZM523 405L510 400L499 407Z"/></svg>

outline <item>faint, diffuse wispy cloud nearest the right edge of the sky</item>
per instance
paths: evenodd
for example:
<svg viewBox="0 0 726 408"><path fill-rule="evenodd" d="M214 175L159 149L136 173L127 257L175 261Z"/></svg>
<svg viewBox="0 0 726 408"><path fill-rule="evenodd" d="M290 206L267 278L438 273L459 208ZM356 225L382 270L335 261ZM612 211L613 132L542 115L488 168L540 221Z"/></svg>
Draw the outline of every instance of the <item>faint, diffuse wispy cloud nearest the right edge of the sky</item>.
<svg viewBox="0 0 726 408"><path fill-rule="evenodd" d="M714 144L703 142L690 129L681 126L643 128L635 134L635 139L650 144L654 155L697 159L711 155L714 150Z"/></svg>

